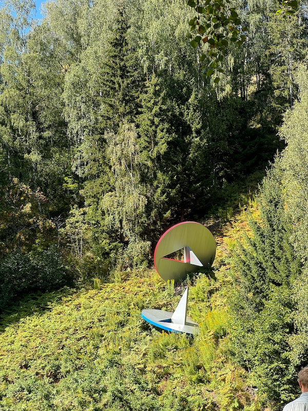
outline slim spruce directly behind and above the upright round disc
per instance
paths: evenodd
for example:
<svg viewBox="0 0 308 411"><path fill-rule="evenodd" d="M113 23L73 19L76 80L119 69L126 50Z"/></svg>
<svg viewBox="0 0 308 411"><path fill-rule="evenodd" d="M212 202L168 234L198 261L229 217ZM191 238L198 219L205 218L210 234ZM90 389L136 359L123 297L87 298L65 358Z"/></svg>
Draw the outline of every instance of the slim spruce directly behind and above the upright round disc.
<svg viewBox="0 0 308 411"><path fill-rule="evenodd" d="M148 221L146 238L153 244L166 227L171 215L172 177L164 156L172 138L170 113L163 80L153 74L140 96L137 118L138 145L142 158L141 183L146 188L145 214Z"/></svg>

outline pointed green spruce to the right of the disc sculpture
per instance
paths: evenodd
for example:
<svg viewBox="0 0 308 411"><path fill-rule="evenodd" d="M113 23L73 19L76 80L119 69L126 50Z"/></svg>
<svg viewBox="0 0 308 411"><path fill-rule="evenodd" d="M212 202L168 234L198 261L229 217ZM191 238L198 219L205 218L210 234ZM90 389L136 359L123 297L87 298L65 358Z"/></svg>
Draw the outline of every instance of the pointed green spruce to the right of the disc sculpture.
<svg viewBox="0 0 308 411"><path fill-rule="evenodd" d="M238 272L246 279L247 293L253 291L260 300L270 284L290 286L300 268L290 241L292 226L284 211L278 162L262 184L260 219L249 221L252 236L246 235L245 245L240 245L235 258Z"/></svg>

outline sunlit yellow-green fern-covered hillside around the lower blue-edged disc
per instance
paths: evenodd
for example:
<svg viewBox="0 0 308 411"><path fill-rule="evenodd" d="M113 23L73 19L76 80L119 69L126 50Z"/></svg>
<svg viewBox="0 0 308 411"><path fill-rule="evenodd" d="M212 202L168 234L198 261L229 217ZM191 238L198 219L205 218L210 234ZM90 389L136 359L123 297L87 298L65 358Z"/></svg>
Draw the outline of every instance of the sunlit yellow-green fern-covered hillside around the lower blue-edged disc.
<svg viewBox="0 0 308 411"><path fill-rule="evenodd" d="M245 215L216 233L214 273L191 282L198 337L156 330L145 308L174 310L183 287L153 271L116 273L95 289L28 297L2 315L0 409L258 409L244 370L230 361L228 248Z"/></svg>

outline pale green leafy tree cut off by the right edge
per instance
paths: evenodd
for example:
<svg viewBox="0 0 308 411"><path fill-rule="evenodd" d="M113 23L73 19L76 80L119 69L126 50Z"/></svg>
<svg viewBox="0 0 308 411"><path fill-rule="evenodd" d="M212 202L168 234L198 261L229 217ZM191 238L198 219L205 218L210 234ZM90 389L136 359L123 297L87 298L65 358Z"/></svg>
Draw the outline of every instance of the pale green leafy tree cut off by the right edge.
<svg viewBox="0 0 308 411"><path fill-rule="evenodd" d="M299 85L299 101L295 102L293 110L284 115L281 127L281 137L287 146L282 153L284 198L286 214L292 221L292 242L296 255L301 260L302 269L296 273L293 284L295 304L293 335L290 336L292 348L291 358L300 368L306 364L308 354L308 218L307 218L307 189L308 189L308 73L304 66L297 72L296 80Z"/></svg>

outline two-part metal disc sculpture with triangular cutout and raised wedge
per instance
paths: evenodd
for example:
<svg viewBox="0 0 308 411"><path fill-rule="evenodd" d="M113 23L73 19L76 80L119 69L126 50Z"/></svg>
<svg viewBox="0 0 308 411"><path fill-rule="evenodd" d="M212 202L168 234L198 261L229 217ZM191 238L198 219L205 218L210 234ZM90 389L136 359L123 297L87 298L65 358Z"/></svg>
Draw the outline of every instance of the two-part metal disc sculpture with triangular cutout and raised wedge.
<svg viewBox="0 0 308 411"><path fill-rule="evenodd" d="M171 258L170 254L183 249L184 258ZM180 222L167 230L157 243L154 264L165 280L178 283L190 272L200 267L210 267L216 254L215 239L211 232L198 222ZM198 324L186 317L188 287L174 313L163 310L143 310L145 321L167 331L186 334L198 333Z"/></svg>

